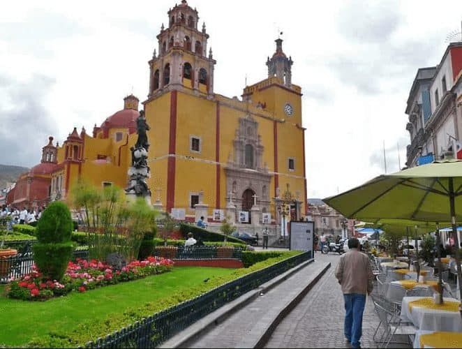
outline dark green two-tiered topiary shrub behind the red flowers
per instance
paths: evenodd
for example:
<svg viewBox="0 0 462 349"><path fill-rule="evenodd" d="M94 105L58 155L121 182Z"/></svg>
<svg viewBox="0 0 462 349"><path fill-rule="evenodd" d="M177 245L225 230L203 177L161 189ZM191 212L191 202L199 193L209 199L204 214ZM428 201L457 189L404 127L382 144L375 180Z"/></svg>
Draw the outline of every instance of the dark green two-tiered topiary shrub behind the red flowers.
<svg viewBox="0 0 462 349"><path fill-rule="evenodd" d="M70 211L60 201L48 205L38 221L38 243L33 245L34 259L40 272L52 280L61 280L72 258L72 228Z"/></svg>

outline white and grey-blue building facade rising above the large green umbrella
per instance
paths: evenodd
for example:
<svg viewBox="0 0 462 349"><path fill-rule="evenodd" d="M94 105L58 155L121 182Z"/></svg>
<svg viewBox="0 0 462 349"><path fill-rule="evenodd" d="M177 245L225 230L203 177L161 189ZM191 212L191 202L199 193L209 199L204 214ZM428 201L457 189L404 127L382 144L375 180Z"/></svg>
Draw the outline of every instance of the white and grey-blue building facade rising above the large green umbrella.
<svg viewBox="0 0 462 349"><path fill-rule="evenodd" d="M408 167L462 158L462 41L448 45L438 66L417 70L405 113Z"/></svg>

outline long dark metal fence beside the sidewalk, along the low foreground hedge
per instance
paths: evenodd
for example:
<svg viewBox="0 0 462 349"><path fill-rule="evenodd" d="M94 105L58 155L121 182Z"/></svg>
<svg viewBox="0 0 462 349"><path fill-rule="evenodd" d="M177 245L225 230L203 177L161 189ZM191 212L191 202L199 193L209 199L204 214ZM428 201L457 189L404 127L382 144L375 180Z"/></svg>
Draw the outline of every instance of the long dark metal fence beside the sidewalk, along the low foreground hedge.
<svg viewBox="0 0 462 349"><path fill-rule="evenodd" d="M137 321L105 338L91 341L85 348L155 348L204 315L311 258L311 251L308 251L242 276L194 299Z"/></svg>

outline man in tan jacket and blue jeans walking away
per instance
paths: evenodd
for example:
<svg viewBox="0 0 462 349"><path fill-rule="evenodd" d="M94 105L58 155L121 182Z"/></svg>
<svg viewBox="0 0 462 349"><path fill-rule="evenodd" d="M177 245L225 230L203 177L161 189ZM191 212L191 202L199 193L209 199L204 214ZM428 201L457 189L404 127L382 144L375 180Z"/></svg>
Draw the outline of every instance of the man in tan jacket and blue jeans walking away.
<svg viewBox="0 0 462 349"><path fill-rule="evenodd" d="M335 277L341 284L345 302L344 334L352 348L361 348L362 315L366 294L373 289L373 274L368 257L359 252L359 240L348 239L349 251L344 253L335 269Z"/></svg>

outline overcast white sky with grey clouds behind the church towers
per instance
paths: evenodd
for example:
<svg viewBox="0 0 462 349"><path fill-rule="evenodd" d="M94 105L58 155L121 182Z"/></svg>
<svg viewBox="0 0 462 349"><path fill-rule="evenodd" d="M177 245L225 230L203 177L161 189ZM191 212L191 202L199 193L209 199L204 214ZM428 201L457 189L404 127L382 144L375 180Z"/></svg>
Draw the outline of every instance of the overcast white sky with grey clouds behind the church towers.
<svg viewBox="0 0 462 349"><path fill-rule="evenodd" d="M179 3L180 0L177 0ZM40 162L49 135L94 124L133 94L175 1L7 1L0 11L0 163ZM325 198L405 163L405 106L417 69L440 63L461 31L460 0L191 0L207 25L215 92L267 77L283 31L302 88L308 198ZM283 144L281 144L282 146ZM399 153L398 153L399 149ZM399 156L398 156L399 154ZM155 175L155 174L154 174Z"/></svg>

